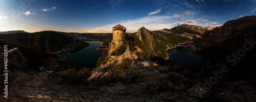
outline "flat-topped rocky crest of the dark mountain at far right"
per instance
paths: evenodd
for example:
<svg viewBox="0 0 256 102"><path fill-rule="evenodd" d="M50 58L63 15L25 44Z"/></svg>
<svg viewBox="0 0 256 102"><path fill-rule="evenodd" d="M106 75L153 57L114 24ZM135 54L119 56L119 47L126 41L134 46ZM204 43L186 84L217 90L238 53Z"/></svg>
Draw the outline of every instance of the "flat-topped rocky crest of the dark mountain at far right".
<svg viewBox="0 0 256 102"><path fill-rule="evenodd" d="M229 20L226 23L224 23L221 27L232 27L248 23L256 23L256 16L245 16L236 20Z"/></svg>

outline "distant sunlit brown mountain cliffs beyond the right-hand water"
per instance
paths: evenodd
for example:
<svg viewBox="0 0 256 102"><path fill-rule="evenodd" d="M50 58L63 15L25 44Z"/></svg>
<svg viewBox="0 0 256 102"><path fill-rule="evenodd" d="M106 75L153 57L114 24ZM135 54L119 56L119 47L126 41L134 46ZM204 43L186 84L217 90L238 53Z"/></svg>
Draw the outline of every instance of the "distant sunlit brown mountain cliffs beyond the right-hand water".
<svg viewBox="0 0 256 102"><path fill-rule="evenodd" d="M162 29L161 31L173 33L176 36L187 37L189 39L201 39L210 30L202 26L182 24L172 29Z"/></svg>

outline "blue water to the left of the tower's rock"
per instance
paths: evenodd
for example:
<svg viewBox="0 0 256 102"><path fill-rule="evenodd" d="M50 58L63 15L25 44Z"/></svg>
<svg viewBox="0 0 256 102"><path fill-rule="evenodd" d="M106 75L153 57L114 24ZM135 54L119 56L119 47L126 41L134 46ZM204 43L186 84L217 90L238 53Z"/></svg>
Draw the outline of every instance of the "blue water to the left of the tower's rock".
<svg viewBox="0 0 256 102"><path fill-rule="evenodd" d="M101 41L86 41L90 45L84 48L75 48L66 59L74 61L79 67L89 67L91 69L97 66L98 58L101 57L102 51L96 48L100 47ZM63 52L60 52L63 53Z"/></svg>

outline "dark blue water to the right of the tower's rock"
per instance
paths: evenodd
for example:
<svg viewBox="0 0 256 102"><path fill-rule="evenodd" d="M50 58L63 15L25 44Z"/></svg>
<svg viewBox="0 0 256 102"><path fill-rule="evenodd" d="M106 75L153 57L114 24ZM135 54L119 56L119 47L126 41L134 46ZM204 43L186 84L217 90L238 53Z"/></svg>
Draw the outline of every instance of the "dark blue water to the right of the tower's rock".
<svg viewBox="0 0 256 102"><path fill-rule="evenodd" d="M201 72L207 66L207 61L191 54L189 52L179 51L173 49L168 52L169 60L175 61L181 64L185 69L194 69L197 72Z"/></svg>

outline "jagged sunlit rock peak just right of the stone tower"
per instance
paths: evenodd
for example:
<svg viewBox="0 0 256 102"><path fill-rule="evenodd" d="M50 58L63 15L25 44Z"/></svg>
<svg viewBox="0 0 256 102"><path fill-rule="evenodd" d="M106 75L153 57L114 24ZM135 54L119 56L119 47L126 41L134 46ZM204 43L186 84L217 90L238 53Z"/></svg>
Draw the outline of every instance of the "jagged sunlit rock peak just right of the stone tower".
<svg viewBox="0 0 256 102"><path fill-rule="evenodd" d="M166 50L173 48L176 44L171 41L168 35L159 32L152 32L145 27L141 27L134 35L135 47L143 51L146 57L159 56L168 59ZM138 51L137 50L137 51Z"/></svg>

